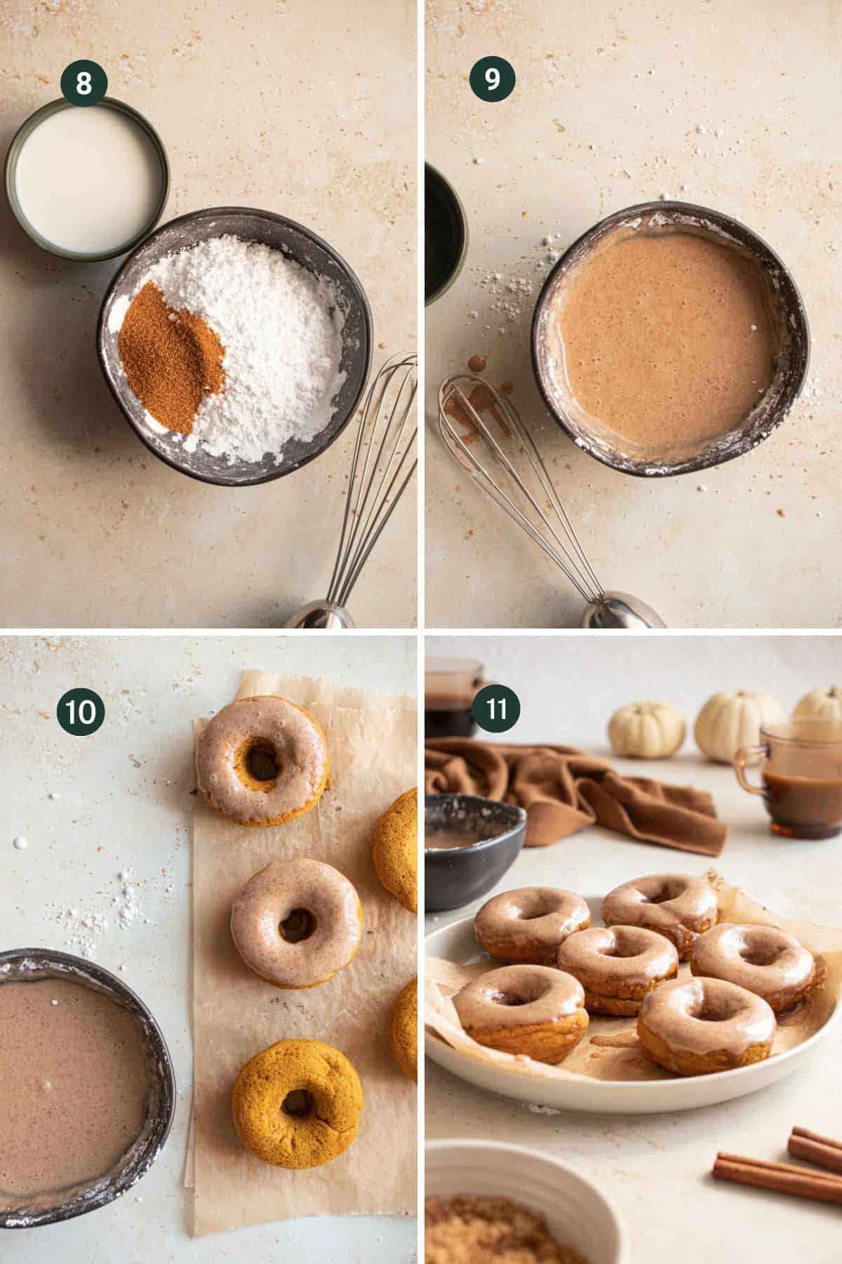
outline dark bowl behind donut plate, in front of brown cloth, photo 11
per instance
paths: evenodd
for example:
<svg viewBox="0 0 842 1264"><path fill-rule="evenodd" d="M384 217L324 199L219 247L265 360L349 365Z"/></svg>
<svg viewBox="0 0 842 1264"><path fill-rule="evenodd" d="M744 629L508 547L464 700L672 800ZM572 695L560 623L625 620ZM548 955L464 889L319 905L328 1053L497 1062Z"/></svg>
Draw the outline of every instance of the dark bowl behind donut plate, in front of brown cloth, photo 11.
<svg viewBox="0 0 842 1264"><path fill-rule="evenodd" d="M473 847L424 848L424 908L427 913L462 909L487 895L509 870L524 846L526 813L510 803L472 794L427 795L424 833L471 825L490 834Z"/></svg>

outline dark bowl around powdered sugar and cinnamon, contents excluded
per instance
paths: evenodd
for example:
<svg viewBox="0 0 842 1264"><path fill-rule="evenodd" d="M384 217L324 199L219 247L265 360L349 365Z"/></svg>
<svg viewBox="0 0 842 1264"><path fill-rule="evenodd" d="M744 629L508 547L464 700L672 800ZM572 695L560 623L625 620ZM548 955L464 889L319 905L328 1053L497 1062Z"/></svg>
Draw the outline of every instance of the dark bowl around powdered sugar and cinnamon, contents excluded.
<svg viewBox="0 0 842 1264"><path fill-rule="evenodd" d="M337 303L345 316L340 360L345 382L333 397L333 416L313 439L290 439L284 445L279 463L271 454L264 454L260 461L230 463L226 456L211 456L201 444L193 451L188 451L179 441L183 436L173 439L172 431L163 426L149 425L146 411L129 386L120 363L117 350L120 331L115 327L116 320L111 320L115 305L122 307L126 301L134 298L144 277L159 259L226 234L242 241L259 241L280 250L308 272L326 277L333 284ZM170 220L135 246L102 300L96 345L105 380L117 407L138 439L155 456L182 474L203 483L249 487L292 474L293 470L321 456L340 437L356 411L371 368L371 308L360 281L342 255L311 229L271 211L218 206L206 211L191 211L177 220ZM278 349L278 354L283 355L283 348Z"/></svg>

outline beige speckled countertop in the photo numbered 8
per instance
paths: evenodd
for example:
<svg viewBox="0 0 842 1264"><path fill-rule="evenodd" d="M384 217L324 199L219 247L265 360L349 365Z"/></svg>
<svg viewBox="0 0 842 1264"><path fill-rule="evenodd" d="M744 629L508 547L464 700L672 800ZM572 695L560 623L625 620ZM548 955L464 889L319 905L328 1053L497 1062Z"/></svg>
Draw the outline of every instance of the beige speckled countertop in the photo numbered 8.
<svg viewBox="0 0 842 1264"><path fill-rule="evenodd" d="M371 302L375 364L415 345L412 0L6 0L0 143L95 57L111 96L167 145L164 220L258 206L313 228ZM353 432L276 483L196 483L131 434L101 378L96 316L119 260L32 245L0 209L3 622L11 627L280 626L323 595ZM380 344L380 345L377 345ZM386 344L385 346L382 344ZM414 487L353 593L361 626L415 623Z"/></svg>

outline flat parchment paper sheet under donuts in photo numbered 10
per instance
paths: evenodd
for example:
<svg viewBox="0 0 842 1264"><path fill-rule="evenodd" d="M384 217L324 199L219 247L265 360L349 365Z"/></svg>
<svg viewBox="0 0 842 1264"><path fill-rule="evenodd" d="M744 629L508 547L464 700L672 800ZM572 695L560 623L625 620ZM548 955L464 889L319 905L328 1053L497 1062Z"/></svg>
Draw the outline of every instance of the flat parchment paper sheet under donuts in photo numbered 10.
<svg viewBox="0 0 842 1264"><path fill-rule="evenodd" d="M417 921L380 886L371 830L415 785L415 699L331 681L245 671L237 698L280 694L316 715L331 781L318 805L276 828L225 820L196 796L193 817L193 1235L268 1220L415 1211L415 1086L386 1036L393 1001L417 973ZM194 738L205 722L194 724ZM264 983L231 940L231 901L270 860L327 861L356 886L362 943L335 978L307 991ZM231 1087L275 1040L318 1039L356 1067L365 1106L353 1144L321 1168L288 1172L249 1154L231 1122ZM188 1177L189 1178L189 1177Z"/></svg>

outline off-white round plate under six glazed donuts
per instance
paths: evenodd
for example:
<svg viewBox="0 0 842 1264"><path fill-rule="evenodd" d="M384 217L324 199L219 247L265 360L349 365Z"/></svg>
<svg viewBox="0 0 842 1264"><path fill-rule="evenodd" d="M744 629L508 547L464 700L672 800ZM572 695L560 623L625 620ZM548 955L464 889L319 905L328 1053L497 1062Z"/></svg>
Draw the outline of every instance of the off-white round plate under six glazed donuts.
<svg viewBox="0 0 842 1264"><path fill-rule="evenodd" d="M601 901L588 899L588 904L593 924L601 925ZM457 964L477 961L473 918L463 918L441 930L433 930L427 935L427 953ZM738 1067L736 1071L717 1071L709 1076L677 1076L674 1079L590 1079L587 1076L577 1079L548 1079L540 1077L540 1072L537 1073L534 1064L513 1062L511 1066L497 1066L472 1053L452 1049L429 1031L424 1047L432 1062L461 1079L505 1097L516 1097L521 1102L590 1114L656 1115L661 1111L716 1106L776 1083L809 1058L841 1015L842 1006L837 1005L824 1026L808 1040L765 1062Z"/></svg>

